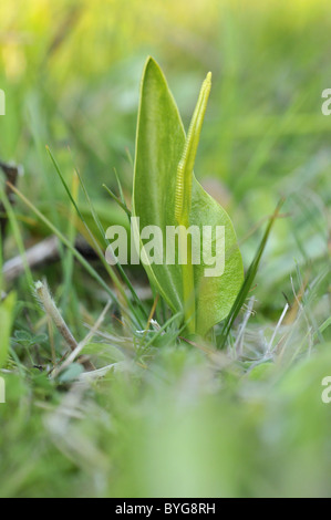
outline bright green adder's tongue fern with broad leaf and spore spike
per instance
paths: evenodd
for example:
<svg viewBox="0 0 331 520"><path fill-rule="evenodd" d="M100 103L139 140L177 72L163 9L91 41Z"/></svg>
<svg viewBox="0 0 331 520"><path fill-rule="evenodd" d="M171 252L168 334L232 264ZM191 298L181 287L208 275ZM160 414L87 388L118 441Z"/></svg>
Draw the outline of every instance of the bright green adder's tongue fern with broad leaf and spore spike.
<svg viewBox="0 0 331 520"><path fill-rule="evenodd" d="M162 262L144 261L151 283L174 312L183 312L187 332L200 335L227 316L244 279L231 220L193 173L210 87L208 73L186 137L165 76L152 58L147 60L133 187L141 250L145 227L155 226L162 231L162 250L166 250L169 229L178 237L178 261L169 261L168 254ZM210 258L221 269L213 270Z"/></svg>

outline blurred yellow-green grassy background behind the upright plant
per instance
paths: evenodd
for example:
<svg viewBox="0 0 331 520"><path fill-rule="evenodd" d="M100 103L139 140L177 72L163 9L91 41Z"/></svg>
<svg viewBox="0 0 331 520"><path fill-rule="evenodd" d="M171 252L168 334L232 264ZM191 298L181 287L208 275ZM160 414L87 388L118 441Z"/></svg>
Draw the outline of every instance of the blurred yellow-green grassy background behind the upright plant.
<svg viewBox="0 0 331 520"><path fill-rule="evenodd" d="M138 84L152 54L186 126L201 80L213 71L196 175L226 206L239 239L280 195L288 197L292 221L273 236L278 261L271 268L279 278L267 273L266 293L293 257L307 261L325 253L327 2L60 0L2 2L0 9L0 84L7 92L0 156L24 166L21 186L28 196L32 187L35 204L63 200L45 144L69 184L75 165L91 195L106 199L101 186L114 185L116 167L130 193ZM242 248L248 264L256 238Z"/></svg>

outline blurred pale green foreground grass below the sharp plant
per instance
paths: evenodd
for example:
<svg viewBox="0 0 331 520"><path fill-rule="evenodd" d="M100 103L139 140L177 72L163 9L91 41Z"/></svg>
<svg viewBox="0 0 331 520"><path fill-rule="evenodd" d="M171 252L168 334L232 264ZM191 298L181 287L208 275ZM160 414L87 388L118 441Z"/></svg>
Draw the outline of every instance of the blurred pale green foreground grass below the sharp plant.
<svg viewBox="0 0 331 520"><path fill-rule="evenodd" d="M330 365L325 344L290 370L210 378L201 353L168 346L148 371L127 364L85 392L7 375L0 496L328 497Z"/></svg>

